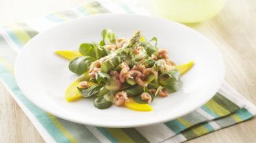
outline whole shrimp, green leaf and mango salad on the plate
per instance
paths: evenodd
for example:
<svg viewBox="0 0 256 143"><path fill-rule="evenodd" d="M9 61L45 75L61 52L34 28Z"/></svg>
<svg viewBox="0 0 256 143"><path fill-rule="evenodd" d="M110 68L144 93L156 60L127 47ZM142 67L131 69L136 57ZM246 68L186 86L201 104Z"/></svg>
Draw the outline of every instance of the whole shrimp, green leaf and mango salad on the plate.
<svg viewBox="0 0 256 143"><path fill-rule="evenodd" d="M104 29L100 42L83 43L78 51L56 51L70 60L78 78L65 93L67 101L94 98L94 106L111 105L149 112L154 99L180 89L180 77L193 62L176 66L156 37L147 41L136 31L132 38L118 38Z"/></svg>

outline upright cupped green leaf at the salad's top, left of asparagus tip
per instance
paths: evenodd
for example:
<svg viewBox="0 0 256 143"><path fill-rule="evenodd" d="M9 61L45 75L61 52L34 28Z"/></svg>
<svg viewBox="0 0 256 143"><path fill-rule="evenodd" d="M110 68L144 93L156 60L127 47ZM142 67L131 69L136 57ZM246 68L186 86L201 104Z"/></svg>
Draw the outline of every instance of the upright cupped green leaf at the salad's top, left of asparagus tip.
<svg viewBox="0 0 256 143"><path fill-rule="evenodd" d="M116 42L116 36L111 29L104 29L101 32L101 36L103 40L100 41L100 46L104 46L105 44L114 44Z"/></svg>

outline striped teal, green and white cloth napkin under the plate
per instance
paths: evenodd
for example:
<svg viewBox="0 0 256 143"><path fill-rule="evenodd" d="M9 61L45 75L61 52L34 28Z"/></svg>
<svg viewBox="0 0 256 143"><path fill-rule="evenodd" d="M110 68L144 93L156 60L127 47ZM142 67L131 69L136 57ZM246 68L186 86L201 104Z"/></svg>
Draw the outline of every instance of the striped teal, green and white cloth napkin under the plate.
<svg viewBox="0 0 256 143"><path fill-rule="evenodd" d="M57 118L31 103L21 92L13 75L14 61L22 47L39 32L88 14L122 12L149 14L130 1L94 1L72 10L47 14L28 23L0 25L0 78L12 97L30 118L45 142L184 142L206 133L243 122L256 114L256 107L227 83L213 99L194 112L149 127L110 129L91 127ZM35 47L36 48L36 47Z"/></svg>

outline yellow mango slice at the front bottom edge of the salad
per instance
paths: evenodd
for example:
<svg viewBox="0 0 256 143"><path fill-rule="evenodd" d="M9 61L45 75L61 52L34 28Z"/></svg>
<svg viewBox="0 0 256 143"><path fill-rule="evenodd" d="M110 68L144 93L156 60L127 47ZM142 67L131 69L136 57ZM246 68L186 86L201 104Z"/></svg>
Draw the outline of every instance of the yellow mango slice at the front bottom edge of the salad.
<svg viewBox="0 0 256 143"><path fill-rule="evenodd" d="M134 101L131 98L129 99L129 102L125 103L125 107L140 112L150 112L153 110L153 108L150 105L136 103L136 101Z"/></svg>

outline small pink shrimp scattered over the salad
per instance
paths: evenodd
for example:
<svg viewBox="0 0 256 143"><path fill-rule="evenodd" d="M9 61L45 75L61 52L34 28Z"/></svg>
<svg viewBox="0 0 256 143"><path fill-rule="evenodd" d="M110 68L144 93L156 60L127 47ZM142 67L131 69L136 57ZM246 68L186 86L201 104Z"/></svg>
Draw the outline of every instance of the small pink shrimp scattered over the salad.
<svg viewBox="0 0 256 143"><path fill-rule="evenodd" d="M122 47L127 46L128 42L129 42L129 40L127 40L125 38L117 38L116 44L107 45L107 49L109 51L115 51L116 49L120 49ZM139 54L140 49L143 49L143 47L136 47L133 51L134 54L135 55ZM100 60L96 60L95 62L93 62L89 66L89 70L88 70L89 76L95 77L96 73L100 72L100 66L101 66L102 62L107 60L107 58L108 57L102 57ZM170 67L175 66L175 63L172 62L171 60L169 60L166 50L162 50L162 49L158 50L158 53L156 55L152 54L151 58L155 61L160 59L160 61L164 65L164 68L159 67L159 70L161 73L163 73L164 71L170 70L169 69ZM120 64L120 68L121 68L120 72L118 72L116 70L110 71L111 78L114 79L114 81L116 83L116 88L117 88L116 90L120 90L122 83L125 83L125 81L127 81L127 79L135 79L136 83L139 86L147 87L148 84L145 81L145 78L147 77L147 75L153 74L155 77L158 77L158 72L156 71L156 69L153 67L146 68L146 66L143 65L143 62L145 62L145 60L140 60L140 62L138 62L137 65L135 65L131 68L128 66L128 64L126 62L122 62L122 64ZM152 94L156 94L156 92L157 92L156 89L150 89L149 91ZM157 94L158 94L158 96L161 96L161 97L168 96L168 92L166 89L159 90ZM142 101L147 101L147 103L151 103L151 101L152 101L151 95L147 92L143 92L142 94L140 94L140 98L142 99ZM116 106L121 106L125 102L129 102L129 98L125 91L120 91L115 94L114 104Z"/></svg>

